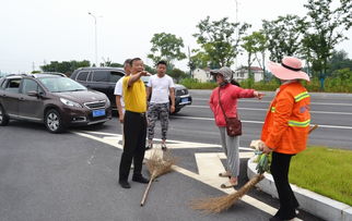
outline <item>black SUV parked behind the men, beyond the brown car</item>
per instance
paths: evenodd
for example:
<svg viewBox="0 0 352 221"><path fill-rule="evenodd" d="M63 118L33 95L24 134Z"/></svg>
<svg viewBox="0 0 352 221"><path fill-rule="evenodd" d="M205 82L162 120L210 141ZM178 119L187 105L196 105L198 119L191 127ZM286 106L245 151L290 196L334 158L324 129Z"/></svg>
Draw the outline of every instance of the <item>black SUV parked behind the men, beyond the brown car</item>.
<svg viewBox="0 0 352 221"><path fill-rule="evenodd" d="M87 88L104 93L109 98L113 109L116 109L115 85L122 76L125 76L125 71L120 67L81 67L72 73L71 78ZM142 77L142 81L146 84L149 76ZM175 84L175 113L191 102L192 98L188 89Z"/></svg>

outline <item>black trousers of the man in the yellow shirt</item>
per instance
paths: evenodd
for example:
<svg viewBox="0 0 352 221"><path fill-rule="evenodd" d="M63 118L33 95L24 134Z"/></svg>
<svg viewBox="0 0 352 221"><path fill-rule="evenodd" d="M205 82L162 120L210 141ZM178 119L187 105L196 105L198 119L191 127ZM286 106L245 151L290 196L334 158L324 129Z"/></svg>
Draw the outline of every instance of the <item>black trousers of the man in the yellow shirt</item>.
<svg viewBox="0 0 352 221"><path fill-rule="evenodd" d="M133 159L133 176L141 176L145 151L145 113L126 111L124 116L124 152L119 168L119 181L127 181Z"/></svg>

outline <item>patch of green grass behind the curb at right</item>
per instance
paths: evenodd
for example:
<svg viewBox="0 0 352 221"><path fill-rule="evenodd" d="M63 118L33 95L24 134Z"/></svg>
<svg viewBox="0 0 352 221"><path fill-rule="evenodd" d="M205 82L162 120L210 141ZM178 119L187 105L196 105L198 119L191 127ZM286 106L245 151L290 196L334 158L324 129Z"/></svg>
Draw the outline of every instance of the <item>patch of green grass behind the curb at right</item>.
<svg viewBox="0 0 352 221"><path fill-rule="evenodd" d="M292 158L290 183L352 206L352 151L308 147Z"/></svg>

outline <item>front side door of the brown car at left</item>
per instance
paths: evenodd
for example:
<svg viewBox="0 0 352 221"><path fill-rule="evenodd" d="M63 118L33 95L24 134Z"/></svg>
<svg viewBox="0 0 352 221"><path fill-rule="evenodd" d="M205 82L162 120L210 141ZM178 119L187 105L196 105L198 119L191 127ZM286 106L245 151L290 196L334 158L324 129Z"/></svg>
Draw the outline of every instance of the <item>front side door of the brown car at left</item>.
<svg viewBox="0 0 352 221"><path fill-rule="evenodd" d="M40 96L44 94L43 88L34 79L23 78L20 91L19 115L32 121L42 121L44 118L44 100Z"/></svg>

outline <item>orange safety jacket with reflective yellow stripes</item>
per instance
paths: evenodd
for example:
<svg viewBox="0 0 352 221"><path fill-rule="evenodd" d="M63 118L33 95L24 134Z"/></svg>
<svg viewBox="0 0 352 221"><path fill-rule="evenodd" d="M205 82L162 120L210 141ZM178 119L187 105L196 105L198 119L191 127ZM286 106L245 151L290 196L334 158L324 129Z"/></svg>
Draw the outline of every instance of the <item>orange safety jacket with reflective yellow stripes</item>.
<svg viewBox="0 0 352 221"><path fill-rule="evenodd" d="M261 140L275 152L294 155L306 148L310 125L310 96L300 82L280 86L261 132Z"/></svg>

